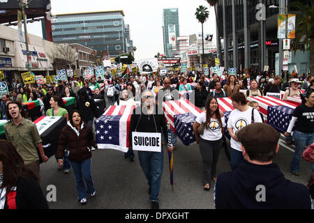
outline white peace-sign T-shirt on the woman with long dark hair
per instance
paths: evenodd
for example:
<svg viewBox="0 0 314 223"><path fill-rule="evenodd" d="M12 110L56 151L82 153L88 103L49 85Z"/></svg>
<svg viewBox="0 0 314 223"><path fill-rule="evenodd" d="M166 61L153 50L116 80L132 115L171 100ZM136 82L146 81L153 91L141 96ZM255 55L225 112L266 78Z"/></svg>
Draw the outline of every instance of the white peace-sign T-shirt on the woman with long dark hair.
<svg viewBox="0 0 314 223"><path fill-rule="evenodd" d="M200 124L205 123L206 113L202 112L199 116L197 116L195 121ZM225 116L221 118L221 123L223 124L223 127L225 127ZM216 141L218 139L221 139L221 137L223 137L223 134L221 132L221 126L219 124L219 121L215 118L211 118L209 129L205 127L204 134L200 134L200 137L209 141Z"/></svg>

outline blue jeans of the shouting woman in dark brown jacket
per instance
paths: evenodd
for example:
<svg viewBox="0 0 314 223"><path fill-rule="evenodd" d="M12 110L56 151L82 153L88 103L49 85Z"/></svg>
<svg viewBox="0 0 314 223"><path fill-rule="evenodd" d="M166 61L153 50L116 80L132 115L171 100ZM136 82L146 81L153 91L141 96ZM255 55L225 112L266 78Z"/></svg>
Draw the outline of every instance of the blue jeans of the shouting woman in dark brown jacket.
<svg viewBox="0 0 314 223"><path fill-rule="evenodd" d="M93 179L91 178L91 159L84 160L83 162L70 161L70 163L76 179L76 190L79 200L87 198L87 194L95 192ZM85 190L83 179L87 185L87 190Z"/></svg>

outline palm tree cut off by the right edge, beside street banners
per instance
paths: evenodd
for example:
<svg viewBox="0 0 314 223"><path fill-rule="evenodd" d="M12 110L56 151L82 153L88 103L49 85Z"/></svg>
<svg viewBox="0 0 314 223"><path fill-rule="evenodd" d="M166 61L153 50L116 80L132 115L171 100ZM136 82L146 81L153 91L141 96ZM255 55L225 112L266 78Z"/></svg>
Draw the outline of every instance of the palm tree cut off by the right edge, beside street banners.
<svg viewBox="0 0 314 223"><path fill-rule="evenodd" d="M314 3L309 1L305 5L299 1L292 2L290 6L297 8L299 11L296 17L295 24L295 39L292 43L293 49L299 49L299 44L304 41L305 45L310 40L310 69L314 72ZM305 50L306 47L304 47ZM307 47L308 49L308 47Z"/></svg>

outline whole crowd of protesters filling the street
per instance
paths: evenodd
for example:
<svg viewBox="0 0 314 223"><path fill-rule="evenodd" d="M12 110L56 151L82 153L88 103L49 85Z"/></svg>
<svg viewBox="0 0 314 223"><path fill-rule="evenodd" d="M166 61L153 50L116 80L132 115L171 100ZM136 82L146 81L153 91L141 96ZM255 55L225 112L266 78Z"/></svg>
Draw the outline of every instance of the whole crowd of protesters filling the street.
<svg viewBox="0 0 314 223"><path fill-rule="evenodd" d="M209 81L208 81L209 79ZM263 165L269 166L270 172L278 172L278 167L274 166L272 159L277 153L277 133L273 134L275 137L271 138L268 142L269 144L263 144L261 136L260 140L260 151L256 156L253 153L252 141L254 137L248 133L250 128L255 131L259 129L260 131L266 131L265 125L259 125L264 122L263 116L259 113L258 104L252 102L251 104L246 103L246 98L251 96L262 96L267 95L267 93L281 93L285 91L283 100L287 100L288 96L299 96L304 100L304 103L297 107L292 115L292 121L285 132L286 137L291 137L290 132L294 127L296 121L296 131L294 134L294 141L296 144L296 151L291 162L292 174L299 176L299 160L301 153L304 151L306 146L310 146L314 142L314 78L311 74L298 76L295 72L292 75L286 75L283 71L281 75L275 76L274 72L257 72L256 69L247 70L246 72L237 72L236 75L230 75L227 71L224 71L220 77L217 74L211 74L208 78L204 75L204 72L188 72L180 73L169 72L165 76L158 75L140 75L140 73L124 75L124 77L109 77L105 76L105 79L98 79L96 81L95 77L91 79L82 78L69 78L67 81L59 81L57 84L20 84L15 82L8 82L8 88L10 89L10 95L3 95L1 100L1 119L8 119L8 123L5 125L6 138L8 141L0 141L0 144L6 144L3 149L0 148L0 208L10 208L12 206L7 203L8 197L6 193L3 192L4 187L12 185L20 185L19 187L30 187L34 185L36 188L38 185L35 183L40 179L39 176L39 162L36 158L38 156L37 152L35 154L36 146L39 148L40 156L43 162L48 159L43 152L43 147L41 145L41 140L36 131L36 125L31 121L23 117L23 109L21 106L22 102L28 102L33 100L38 100L40 103L40 112L42 115L46 116L64 116L67 118L67 125L61 131L59 137L59 146L56 154L56 159L59 167L66 167L64 173L68 173L70 167L73 167L75 174L76 184L77 184L77 194L81 204L87 203L87 194L91 197L96 195L96 190L94 188L94 183L91 176L91 151L97 148L94 141L94 120L105 112L105 109L111 105L137 105L137 102L142 102L147 109L151 109L151 105L160 106L157 100L152 101L152 98L159 98L158 95L163 95L163 100L174 100L174 95L172 92L177 89L178 91L191 91L191 83L196 83L195 88L195 106L202 109L202 114L197 116L196 121L193 126L196 143L200 146L200 154L202 156L203 168L202 168L202 181L204 190L209 190L211 188L211 180L216 183L216 198L215 204L216 208L261 208L256 203L252 204L250 198L246 197L246 201L241 203L237 199L237 195L232 194L230 200L224 197L224 193L230 193L232 189L227 187L230 183L237 184L239 181L234 181L231 176L216 175L216 167L218 162L218 155L220 153L220 148L225 145L225 128L227 128L231 139L231 156L230 164L232 173L241 174L251 171L254 173L254 168L256 171L261 171ZM105 84L103 91L101 85ZM245 93L240 92L240 90L245 90ZM301 90L305 90L306 93L302 93ZM144 95L144 96L143 96ZM73 111L67 111L63 104L62 98L75 97L75 109ZM217 98L230 97L232 100L232 105L234 110L230 113L227 125L225 124L225 116L223 112L220 112ZM103 100L106 105L103 107L103 111L98 111L99 106L96 104L95 100ZM304 113L309 114L306 117ZM150 114L149 114L150 115ZM137 129L138 123L142 121L140 129L143 132L151 132L151 128L156 128L156 131L163 132L164 145L167 144L167 137L165 134L165 118L164 116L152 116L156 118L154 125L147 127L144 123L149 123L149 116L147 114L138 116L133 114L132 128ZM142 118L142 119L141 119ZM239 123L241 120L241 123ZM154 119L155 121L155 119ZM156 125L157 123L157 125ZM245 124L244 124L245 123ZM254 125L258 124L258 125ZM20 125L28 126L26 128L18 128ZM253 126L253 127L250 127ZM162 130L163 129L163 130ZM240 131L239 131L240 130ZM246 130L246 131L245 131ZM268 130L273 131L273 130ZM19 134L16 134L19 132ZM22 144L19 136L27 141L27 144ZM251 139L252 138L252 139ZM171 130L171 150L177 149L177 135ZM271 145L271 148L262 148L264 146ZM20 165L22 169L15 174L15 180L8 181L6 178L6 172L8 167L7 156L9 147L16 148L20 157L16 157L13 164ZM12 149L11 149L12 150ZM67 155L65 155L66 153ZM269 155L269 154L272 155ZM162 153L161 153L162 154ZM12 152L8 155L14 155ZM155 154L156 155L156 154ZM264 156L263 156L264 155ZM159 155L158 159L161 159L163 155ZM135 156L130 148L125 157L134 160ZM267 158L265 158L267 157ZM24 164L21 164L24 160ZM151 195L151 208L159 208L158 205L158 192L160 187L160 178L162 172L163 162L158 162L158 176L151 176L150 171L154 171L154 168L147 166L151 162L151 154L149 153L139 153L139 159L141 162L141 167L144 171L145 176L149 182L149 193ZM258 161L258 162L254 162ZM264 163L264 164L263 164ZM255 164L256 166L253 166ZM3 165L3 167L2 167ZM253 169L250 170L250 165ZM264 166L264 167L265 167ZM161 168L161 170L160 170ZM312 168L314 172L314 165L312 161ZM151 169L151 170L150 170ZM267 171L262 169L264 173L264 179L267 178ZM232 174L231 173L231 174ZM3 180L2 180L2 175ZM276 174L274 174L275 176ZM278 175L278 173L277 173ZM31 185L24 183L22 178L29 178L33 183ZM220 180L221 179L221 180ZM87 185L85 188L84 181ZM151 180L157 180L158 183L151 183ZM240 180L240 178L239 178ZM243 180L243 179L242 179ZM282 183L285 183L285 178L281 177ZM8 183L9 182L9 183ZM225 182L223 185L222 182ZM250 184L248 181L247 184ZM250 185L248 185L250 187ZM251 188L251 187L250 187ZM284 190L285 186L281 185L276 187L276 192L279 190ZM311 204L306 201L304 197L308 194L304 191L304 187L301 185L293 184L289 185L289 191L300 190L299 199L302 203L297 208L311 208ZM4 197L2 196L2 193ZM6 190L8 192L8 190ZM239 193L244 193L243 190L239 190ZM47 208L47 203L43 202L41 199L42 194L38 194L38 205L32 203L33 208ZM27 196L27 195L25 195ZM35 195L33 195L35 196ZM234 199L237 202L231 201ZM283 198L282 198L283 199ZM294 201L297 201L297 197L294 197ZM310 198L308 197L308 201ZM5 202L5 203L3 203ZM274 201L275 202L275 201ZM280 202L284 203L283 200ZM24 205L27 205L25 203ZM286 206L281 206L280 204L273 203L274 208L287 207L292 208L293 202L285 203ZM290 205L290 206L289 206ZM24 206L21 206L22 208ZM270 207L270 206L269 206ZM16 207L15 207L16 208ZM18 208L18 207L17 207ZM265 206L264 208L267 208Z"/></svg>

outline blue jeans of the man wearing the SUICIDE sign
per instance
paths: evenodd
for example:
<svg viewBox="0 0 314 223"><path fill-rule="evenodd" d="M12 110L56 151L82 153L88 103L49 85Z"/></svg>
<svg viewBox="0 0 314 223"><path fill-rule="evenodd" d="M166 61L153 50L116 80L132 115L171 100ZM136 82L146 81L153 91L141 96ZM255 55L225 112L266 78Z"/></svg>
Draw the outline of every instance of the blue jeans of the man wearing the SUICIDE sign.
<svg viewBox="0 0 314 223"><path fill-rule="evenodd" d="M158 201L160 190L161 174L163 174L163 147L161 152L138 151L140 165L151 187L151 201Z"/></svg>

